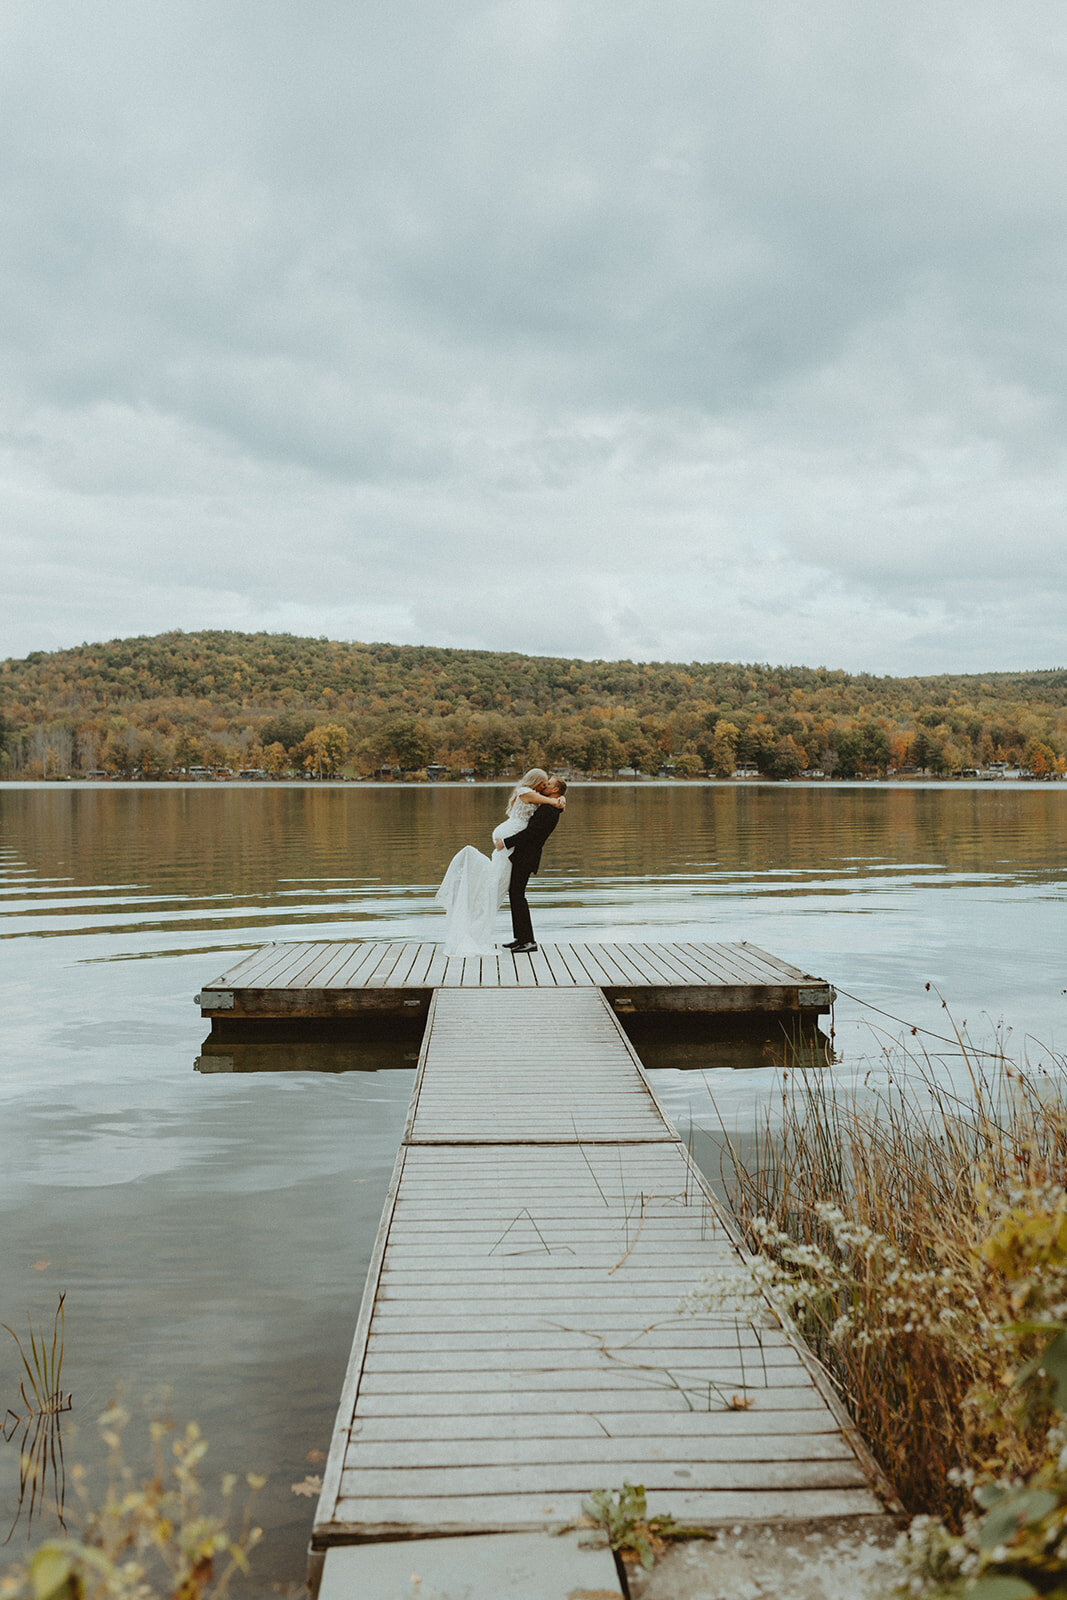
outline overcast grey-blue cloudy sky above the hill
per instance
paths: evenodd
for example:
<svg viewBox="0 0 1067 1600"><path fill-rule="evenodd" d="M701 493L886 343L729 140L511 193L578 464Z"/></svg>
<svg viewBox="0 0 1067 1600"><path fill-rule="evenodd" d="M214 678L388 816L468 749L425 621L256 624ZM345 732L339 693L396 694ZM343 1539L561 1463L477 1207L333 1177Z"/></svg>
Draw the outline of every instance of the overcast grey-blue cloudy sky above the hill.
<svg viewBox="0 0 1067 1600"><path fill-rule="evenodd" d="M0 656L1067 662L1062 0L5 0Z"/></svg>

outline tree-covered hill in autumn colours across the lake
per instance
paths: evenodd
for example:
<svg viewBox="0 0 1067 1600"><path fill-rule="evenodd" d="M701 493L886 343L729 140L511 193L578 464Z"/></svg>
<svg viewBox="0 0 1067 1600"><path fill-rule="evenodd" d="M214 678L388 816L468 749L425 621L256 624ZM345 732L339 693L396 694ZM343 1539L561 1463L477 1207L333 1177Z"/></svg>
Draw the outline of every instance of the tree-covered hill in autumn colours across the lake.
<svg viewBox="0 0 1067 1600"><path fill-rule="evenodd" d="M889 678L160 634L0 662L8 774L561 765L769 776L1067 754L1067 670Z"/></svg>

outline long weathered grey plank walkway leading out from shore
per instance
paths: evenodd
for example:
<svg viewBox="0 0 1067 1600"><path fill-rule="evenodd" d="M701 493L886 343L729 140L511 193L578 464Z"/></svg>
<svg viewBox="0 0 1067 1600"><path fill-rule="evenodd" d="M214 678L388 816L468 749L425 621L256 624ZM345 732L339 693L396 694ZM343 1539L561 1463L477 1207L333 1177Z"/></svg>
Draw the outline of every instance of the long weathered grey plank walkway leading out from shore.
<svg viewBox="0 0 1067 1600"><path fill-rule="evenodd" d="M560 1526L624 1480L694 1523L881 1514L769 1312L681 1310L709 1267L747 1282L598 986L440 987L312 1547Z"/></svg>

